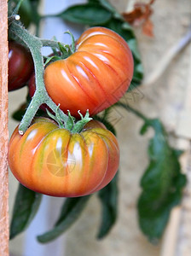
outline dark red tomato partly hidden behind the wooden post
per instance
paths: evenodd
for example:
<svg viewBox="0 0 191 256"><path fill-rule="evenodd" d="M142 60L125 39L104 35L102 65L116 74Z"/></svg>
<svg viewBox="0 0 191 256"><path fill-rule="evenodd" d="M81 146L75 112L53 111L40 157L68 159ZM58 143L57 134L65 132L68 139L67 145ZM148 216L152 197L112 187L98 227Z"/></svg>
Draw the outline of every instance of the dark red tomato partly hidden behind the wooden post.
<svg viewBox="0 0 191 256"><path fill-rule="evenodd" d="M9 84L10 90L17 90L26 85L33 72L32 55L27 49L14 42L9 42Z"/></svg>

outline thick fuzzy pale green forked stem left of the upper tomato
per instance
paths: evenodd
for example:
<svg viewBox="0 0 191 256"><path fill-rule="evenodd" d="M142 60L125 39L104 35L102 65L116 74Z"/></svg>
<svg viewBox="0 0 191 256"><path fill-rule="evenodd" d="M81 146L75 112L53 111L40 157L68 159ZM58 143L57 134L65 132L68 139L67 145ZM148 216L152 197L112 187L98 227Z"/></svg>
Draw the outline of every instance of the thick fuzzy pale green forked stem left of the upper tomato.
<svg viewBox="0 0 191 256"><path fill-rule="evenodd" d="M19 37L31 50L35 67L36 91L32 97L32 102L30 103L23 119L20 122L19 127L20 134L24 134L28 126L31 124L32 119L34 118L41 104L46 103L55 113L57 106L55 102L50 99L43 83L43 56L41 55L41 48L43 47L43 43L39 38L32 36L29 32L27 32L26 29L24 29L22 26L20 26L19 23L15 21L9 26L9 29L12 33L14 33L15 37ZM55 42L53 47L55 47ZM67 114L63 113L61 109L59 109L59 113L61 115L61 119L63 119L63 122L67 123Z"/></svg>

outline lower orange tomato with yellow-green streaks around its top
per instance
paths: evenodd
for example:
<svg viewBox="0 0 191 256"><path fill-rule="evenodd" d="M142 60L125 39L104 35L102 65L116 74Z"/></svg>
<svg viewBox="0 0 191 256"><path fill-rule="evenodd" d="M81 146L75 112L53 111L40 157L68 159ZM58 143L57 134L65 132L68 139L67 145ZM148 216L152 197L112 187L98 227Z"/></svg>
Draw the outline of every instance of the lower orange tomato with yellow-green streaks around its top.
<svg viewBox="0 0 191 256"><path fill-rule="evenodd" d="M26 186L45 195L90 195L109 183L119 167L116 137L91 120L80 133L54 121L35 119L23 136L18 127L9 142L9 167Z"/></svg>

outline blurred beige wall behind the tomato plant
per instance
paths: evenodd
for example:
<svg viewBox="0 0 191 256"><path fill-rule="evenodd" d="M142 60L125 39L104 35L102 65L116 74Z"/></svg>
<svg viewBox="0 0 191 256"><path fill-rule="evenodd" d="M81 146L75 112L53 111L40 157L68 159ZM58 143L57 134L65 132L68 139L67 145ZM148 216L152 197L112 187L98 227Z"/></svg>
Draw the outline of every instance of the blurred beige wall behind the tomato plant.
<svg viewBox="0 0 191 256"><path fill-rule="evenodd" d="M124 11L130 9L135 1L111 0L111 3ZM143 1L140 1L143 2ZM144 1L148 2L148 1ZM151 73L159 68L159 62L166 53L177 44L179 38L182 38L188 31L191 24L191 2L188 0L156 0L153 4L154 38L148 38L142 35L141 29L136 29L139 49L142 55L143 66L146 80ZM188 137L182 137L182 132L177 131L177 126L182 122L180 116L185 108L185 101L188 95L189 77L191 75L190 44L183 49L171 61L165 72L159 76L154 84L143 84L140 87L140 95L135 100L130 100L130 105L139 109L148 117L159 117L163 120L166 130L170 132L171 143L178 148L185 150L182 160L185 172L188 169ZM17 108L18 102L22 102L26 95L26 89L9 94L9 114ZM142 97L143 96L143 97ZM139 135L142 121L137 119L131 113L124 112L122 109L116 109L113 112L119 122L116 124L118 132L121 159L119 173L119 219L111 233L102 241L96 241L96 233L101 221L101 207L96 196L93 196L78 222L68 230L63 238L66 253L68 256L187 256L190 255L191 236L188 228L189 211L187 207L190 202L190 190L185 190L185 200L182 207L178 208L176 220L178 220L177 236L171 236L172 227L175 225L175 218L171 220L168 230L170 233L164 237L158 245L150 244L142 235L137 224L136 200L140 194L139 181L142 173L148 165L147 148L148 138L152 136L148 132L144 137ZM17 123L10 119L10 133L14 130ZM184 125L183 125L184 126ZM191 131L191 130L190 130ZM10 212L13 207L13 198L17 183L10 174ZM190 229L191 230L191 229ZM170 235L168 235L170 234ZM18 236L11 241L10 248L12 252L18 255L22 247L23 237ZM171 237L170 237L171 236ZM171 238L169 240L169 238ZM176 249L170 252L167 247L173 245L173 239L177 241ZM168 241L166 243L166 241ZM20 247L18 245L20 244ZM55 248L56 250L56 248ZM24 255L26 256L26 255ZM41 255L39 255L41 256Z"/></svg>

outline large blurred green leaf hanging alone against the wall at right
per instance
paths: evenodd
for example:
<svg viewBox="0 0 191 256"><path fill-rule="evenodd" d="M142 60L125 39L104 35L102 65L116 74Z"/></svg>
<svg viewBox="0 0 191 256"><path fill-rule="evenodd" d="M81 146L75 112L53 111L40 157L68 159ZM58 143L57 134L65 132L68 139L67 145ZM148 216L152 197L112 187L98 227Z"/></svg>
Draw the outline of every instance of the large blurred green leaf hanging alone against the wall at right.
<svg viewBox="0 0 191 256"><path fill-rule="evenodd" d="M165 129L159 119L143 125L155 131L150 140L150 163L142 176L142 194L138 200L138 218L142 232L150 241L158 240L165 230L172 207L180 203L186 177L181 173L178 151L167 142Z"/></svg>

